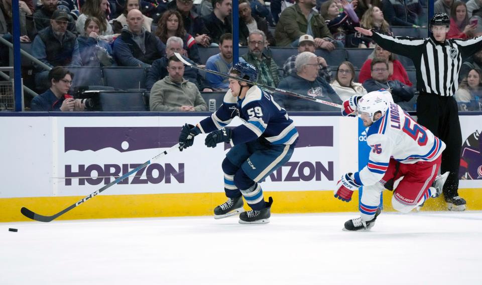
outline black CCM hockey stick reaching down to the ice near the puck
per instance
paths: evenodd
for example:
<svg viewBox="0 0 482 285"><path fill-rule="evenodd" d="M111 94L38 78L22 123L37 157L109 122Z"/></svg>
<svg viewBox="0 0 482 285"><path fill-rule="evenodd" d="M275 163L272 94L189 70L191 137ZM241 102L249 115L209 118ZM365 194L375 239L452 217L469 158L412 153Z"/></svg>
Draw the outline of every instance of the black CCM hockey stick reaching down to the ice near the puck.
<svg viewBox="0 0 482 285"><path fill-rule="evenodd" d="M117 184L121 181L123 181L124 179L128 178L129 176L131 176L132 174L138 172L139 170L145 168L146 166L150 165L152 162L154 162L155 160L158 160L160 159L161 157L167 155L168 153L170 153L171 151L173 150L176 150L176 149L179 149L179 144L165 150L164 152L158 154L157 156L153 157L152 159L148 160L147 162L145 162L144 164L140 165L139 167L137 167L136 169L133 169L131 170L130 172L124 174L123 176L115 179L114 181L110 182L109 184L105 185L104 187L100 188L99 190L95 191L94 193L86 196L85 198L83 198L82 200L78 201L77 203L71 205L70 207L58 212L57 214L55 215L52 215L52 216L43 216L43 215L39 215L37 213L34 213L32 212L31 210L25 208L25 207L22 207L22 209L20 209L20 212L26 216L27 218L30 218L32 220L35 220L35 221L39 221L39 222L50 222L56 218L58 218L59 216L67 213L68 211L72 210L73 208L79 206L80 204L84 203L85 201L87 200L90 200L91 198L93 198L94 196L97 196L98 194L100 194L102 191L106 190L107 188L109 188L110 186L114 185L114 184Z"/></svg>

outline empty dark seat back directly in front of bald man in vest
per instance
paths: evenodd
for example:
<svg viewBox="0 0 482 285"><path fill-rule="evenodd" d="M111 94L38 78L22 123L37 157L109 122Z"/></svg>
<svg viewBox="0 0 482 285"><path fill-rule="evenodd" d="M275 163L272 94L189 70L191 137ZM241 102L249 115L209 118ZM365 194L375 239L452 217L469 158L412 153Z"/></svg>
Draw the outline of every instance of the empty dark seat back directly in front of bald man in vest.
<svg viewBox="0 0 482 285"><path fill-rule="evenodd" d="M146 88L144 67L104 67L102 73L105 86L119 90Z"/></svg>

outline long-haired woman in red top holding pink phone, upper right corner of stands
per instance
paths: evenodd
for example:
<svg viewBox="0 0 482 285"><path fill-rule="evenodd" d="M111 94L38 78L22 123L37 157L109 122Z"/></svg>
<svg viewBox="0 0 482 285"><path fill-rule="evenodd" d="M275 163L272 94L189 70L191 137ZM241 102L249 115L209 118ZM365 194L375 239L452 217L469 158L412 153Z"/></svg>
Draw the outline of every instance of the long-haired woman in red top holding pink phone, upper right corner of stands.
<svg viewBox="0 0 482 285"><path fill-rule="evenodd" d="M450 10L450 30L447 39L468 39L470 32L477 28L477 24L468 24L467 6L464 2L456 1Z"/></svg>

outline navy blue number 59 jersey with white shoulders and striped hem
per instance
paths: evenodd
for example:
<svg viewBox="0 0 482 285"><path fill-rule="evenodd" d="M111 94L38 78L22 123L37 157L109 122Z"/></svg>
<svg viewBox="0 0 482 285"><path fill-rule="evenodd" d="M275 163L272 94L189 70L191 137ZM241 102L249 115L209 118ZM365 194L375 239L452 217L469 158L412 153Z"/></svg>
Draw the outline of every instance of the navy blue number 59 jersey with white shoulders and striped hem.
<svg viewBox="0 0 482 285"><path fill-rule="evenodd" d="M202 132L208 133L223 128L235 117L244 124L232 130L233 146L263 137L274 145L291 145L298 138L298 131L286 110L281 108L273 96L252 86L243 99L233 97L229 89L223 103L211 117L199 122Z"/></svg>

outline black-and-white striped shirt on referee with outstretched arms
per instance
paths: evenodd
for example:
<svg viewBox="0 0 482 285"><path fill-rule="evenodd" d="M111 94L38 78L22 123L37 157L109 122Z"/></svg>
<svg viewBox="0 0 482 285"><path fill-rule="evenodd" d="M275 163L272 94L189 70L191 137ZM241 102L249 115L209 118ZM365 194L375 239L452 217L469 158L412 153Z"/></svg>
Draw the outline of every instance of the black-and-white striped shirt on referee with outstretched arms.
<svg viewBox="0 0 482 285"><path fill-rule="evenodd" d="M391 37L372 32L372 39L383 49L413 61L417 90L439 96L455 94L462 63L482 49L482 36L468 40L450 39L439 43L432 37Z"/></svg>

